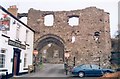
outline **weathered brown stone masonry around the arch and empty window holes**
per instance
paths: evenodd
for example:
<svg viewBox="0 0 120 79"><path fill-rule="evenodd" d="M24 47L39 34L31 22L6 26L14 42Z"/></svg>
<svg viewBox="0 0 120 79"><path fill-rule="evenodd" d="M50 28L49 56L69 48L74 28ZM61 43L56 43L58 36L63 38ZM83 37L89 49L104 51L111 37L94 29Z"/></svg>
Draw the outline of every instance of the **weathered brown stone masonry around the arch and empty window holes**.
<svg viewBox="0 0 120 79"><path fill-rule="evenodd" d="M54 23L52 27L45 26L44 17L52 14ZM68 20L71 17L78 17L79 24L71 27ZM35 48L41 39L47 35L55 35L64 44L64 52L69 51L69 63L73 63L76 57L76 64L94 63L103 67L109 65L111 52L109 13L96 7L88 7L82 10L72 11L40 11L30 9L28 12L28 26L36 31ZM95 41L94 34L99 32L99 42ZM72 36L75 42L71 43ZM100 58L100 60L98 59Z"/></svg>

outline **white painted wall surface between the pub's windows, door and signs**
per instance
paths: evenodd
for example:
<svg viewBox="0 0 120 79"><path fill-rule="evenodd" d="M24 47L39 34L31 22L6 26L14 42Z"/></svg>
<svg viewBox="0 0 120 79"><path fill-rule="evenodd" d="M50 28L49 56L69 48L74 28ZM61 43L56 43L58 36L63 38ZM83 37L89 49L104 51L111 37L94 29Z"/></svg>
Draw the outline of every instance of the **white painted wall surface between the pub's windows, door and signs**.
<svg viewBox="0 0 120 79"><path fill-rule="evenodd" d="M2 13L4 13L4 12L0 9L0 18L2 16ZM18 23L20 25L19 41L21 41L21 43L24 44L24 45L25 45L25 38L26 38L26 30L29 31L28 32L29 41L27 42L27 44L29 44L29 46L26 45L25 50L19 48L21 50L21 55L20 55L21 63L20 63L20 71L19 72L25 72L26 70L23 70L24 69L24 55L25 55L25 53L27 53L27 67L28 67L28 65L32 65L34 32L31 31L26 26L19 23L17 20L12 18L11 16L9 16L9 17L11 18L11 20L10 20L10 30L7 31L7 34L4 34L4 33L2 33L2 31L0 31L0 50L1 50L1 48L6 49L5 68L0 68L0 69L8 69L8 73L12 73L13 62L11 61L11 59L13 59L13 52L14 52L13 48L17 48L17 47L8 45L8 38L3 37L2 34L10 37L11 40L15 41L15 39L16 39L16 28L18 26L17 25L17 23ZM14 21L16 21L16 24L13 24ZM2 72L0 72L0 73L2 73Z"/></svg>

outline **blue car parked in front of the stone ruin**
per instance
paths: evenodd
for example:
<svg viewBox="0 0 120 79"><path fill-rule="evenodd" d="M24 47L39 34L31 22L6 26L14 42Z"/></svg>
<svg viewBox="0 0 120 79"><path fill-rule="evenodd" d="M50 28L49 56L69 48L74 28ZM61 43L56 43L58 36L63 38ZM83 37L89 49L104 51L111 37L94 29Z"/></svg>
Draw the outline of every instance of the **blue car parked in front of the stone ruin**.
<svg viewBox="0 0 120 79"><path fill-rule="evenodd" d="M73 76L79 76L79 77L97 77L97 76L102 76L106 73L113 73L114 70L112 69L103 69L98 65L94 64L82 64L79 66L74 67L71 70L71 73Z"/></svg>

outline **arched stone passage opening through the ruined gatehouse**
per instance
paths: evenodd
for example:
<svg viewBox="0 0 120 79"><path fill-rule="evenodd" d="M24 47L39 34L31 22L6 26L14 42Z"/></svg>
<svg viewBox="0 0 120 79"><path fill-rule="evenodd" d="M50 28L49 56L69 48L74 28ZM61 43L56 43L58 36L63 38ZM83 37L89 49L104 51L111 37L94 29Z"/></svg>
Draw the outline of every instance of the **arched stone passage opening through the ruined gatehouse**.
<svg viewBox="0 0 120 79"><path fill-rule="evenodd" d="M37 45L39 51L38 58L44 63L63 63L64 44L55 37L46 37L39 41Z"/></svg>

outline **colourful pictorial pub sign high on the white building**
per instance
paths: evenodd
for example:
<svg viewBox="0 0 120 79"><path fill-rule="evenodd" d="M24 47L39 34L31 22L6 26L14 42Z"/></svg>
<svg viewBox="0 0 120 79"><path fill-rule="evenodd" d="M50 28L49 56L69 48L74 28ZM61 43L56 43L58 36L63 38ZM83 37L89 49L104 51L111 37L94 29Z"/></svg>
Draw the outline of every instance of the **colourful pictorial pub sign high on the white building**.
<svg viewBox="0 0 120 79"><path fill-rule="evenodd" d="M8 31L10 29L10 17L0 10L0 30Z"/></svg>

